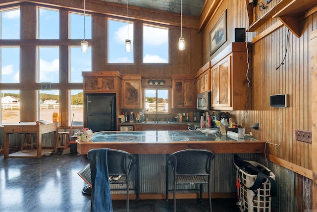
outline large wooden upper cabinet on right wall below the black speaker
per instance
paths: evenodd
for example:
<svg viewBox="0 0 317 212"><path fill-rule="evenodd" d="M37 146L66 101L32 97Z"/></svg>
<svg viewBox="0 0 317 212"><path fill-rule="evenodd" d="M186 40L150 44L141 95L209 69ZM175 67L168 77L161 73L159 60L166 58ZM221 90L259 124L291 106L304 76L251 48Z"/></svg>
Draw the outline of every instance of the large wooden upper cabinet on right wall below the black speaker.
<svg viewBox="0 0 317 212"><path fill-rule="evenodd" d="M251 51L250 48L248 49ZM212 109L245 110L247 102L249 101L249 105L251 104L251 95L249 95L249 99L247 96L247 60L244 42L230 44L211 60ZM250 78L250 72L248 75Z"/></svg>

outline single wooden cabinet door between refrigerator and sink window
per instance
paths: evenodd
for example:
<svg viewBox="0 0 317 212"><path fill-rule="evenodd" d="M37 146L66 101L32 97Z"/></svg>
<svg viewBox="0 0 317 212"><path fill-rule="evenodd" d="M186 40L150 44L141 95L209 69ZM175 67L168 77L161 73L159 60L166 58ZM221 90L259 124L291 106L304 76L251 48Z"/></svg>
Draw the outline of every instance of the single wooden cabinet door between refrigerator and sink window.
<svg viewBox="0 0 317 212"><path fill-rule="evenodd" d="M123 80L122 90L122 108L141 108L141 80Z"/></svg>

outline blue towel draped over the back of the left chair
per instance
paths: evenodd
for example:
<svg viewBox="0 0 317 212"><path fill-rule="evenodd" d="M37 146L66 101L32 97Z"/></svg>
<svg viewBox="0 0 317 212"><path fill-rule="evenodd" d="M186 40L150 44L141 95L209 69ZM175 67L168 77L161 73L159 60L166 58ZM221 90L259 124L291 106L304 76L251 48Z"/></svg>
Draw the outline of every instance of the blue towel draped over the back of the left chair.
<svg viewBox="0 0 317 212"><path fill-rule="evenodd" d="M112 212L110 181L107 165L108 148L88 151L92 179L91 212Z"/></svg>

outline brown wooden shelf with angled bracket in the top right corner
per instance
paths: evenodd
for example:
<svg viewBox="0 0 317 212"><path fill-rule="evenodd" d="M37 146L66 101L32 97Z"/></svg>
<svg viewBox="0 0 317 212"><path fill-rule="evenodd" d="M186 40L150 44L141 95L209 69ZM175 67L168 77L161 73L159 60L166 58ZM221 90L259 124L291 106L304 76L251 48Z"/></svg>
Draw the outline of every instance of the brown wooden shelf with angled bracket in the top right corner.
<svg viewBox="0 0 317 212"><path fill-rule="evenodd" d="M283 24L296 35L301 37L302 27L300 21L305 18L305 13L317 5L317 0L292 0L281 10L279 10L273 18L278 18Z"/></svg>

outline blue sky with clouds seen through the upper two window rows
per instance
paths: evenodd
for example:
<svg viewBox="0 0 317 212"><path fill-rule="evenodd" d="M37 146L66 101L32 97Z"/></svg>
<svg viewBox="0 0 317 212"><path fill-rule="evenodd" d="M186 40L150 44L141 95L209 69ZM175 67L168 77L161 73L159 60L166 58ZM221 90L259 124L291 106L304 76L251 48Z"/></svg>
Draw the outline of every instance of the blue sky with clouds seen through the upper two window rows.
<svg viewBox="0 0 317 212"><path fill-rule="evenodd" d="M20 10L3 10L1 14L1 39L19 39ZM58 39L58 10L40 9L40 39ZM85 38L91 39L91 16L85 16ZM70 38L84 38L84 16L72 13L70 16ZM128 38L126 21L109 19L109 62L133 62L131 53L125 52L125 39ZM168 62L168 29L144 25L143 62ZM106 39L106 38L105 38ZM129 40L133 44L133 23L129 24ZM79 44L80 45L80 44ZM39 47L39 81L58 82L59 47ZM1 82L19 83L19 47L1 48ZM91 71L91 48L81 53L80 47L70 48L70 82L82 82L82 71ZM53 91L52 91L53 92Z"/></svg>

